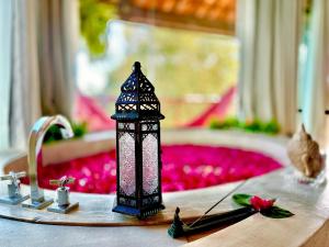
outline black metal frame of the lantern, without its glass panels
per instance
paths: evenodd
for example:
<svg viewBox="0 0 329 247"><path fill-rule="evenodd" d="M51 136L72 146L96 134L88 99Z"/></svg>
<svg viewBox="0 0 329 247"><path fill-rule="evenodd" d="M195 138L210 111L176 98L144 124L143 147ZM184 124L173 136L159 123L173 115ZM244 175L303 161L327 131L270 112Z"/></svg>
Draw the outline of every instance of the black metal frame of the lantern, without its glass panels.
<svg viewBox="0 0 329 247"><path fill-rule="evenodd" d="M155 88L140 70L140 64L136 61L133 72L121 87L121 94L115 103L116 120L116 205L114 212L134 215L140 218L156 214L163 210L161 194L161 148L160 148L160 120L164 116L160 113L160 102L155 94ZM133 194L126 194L121 188L121 144L123 135L128 134L135 142L135 190ZM152 135L157 139L157 188L152 193L144 190L144 139Z"/></svg>

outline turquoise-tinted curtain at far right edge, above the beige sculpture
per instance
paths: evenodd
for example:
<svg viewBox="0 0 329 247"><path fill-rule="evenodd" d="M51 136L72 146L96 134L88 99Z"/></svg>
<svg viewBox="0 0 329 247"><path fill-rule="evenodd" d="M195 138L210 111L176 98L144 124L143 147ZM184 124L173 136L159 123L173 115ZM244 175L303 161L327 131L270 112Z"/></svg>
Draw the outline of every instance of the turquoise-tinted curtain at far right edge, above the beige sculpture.
<svg viewBox="0 0 329 247"><path fill-rule="evenodd" d="M306 60L300 68L299 106L303 122L317 139L326 137L329 77L329 2L314 0L306 33ZM328 117L328 116L327 116Z"/></svg>

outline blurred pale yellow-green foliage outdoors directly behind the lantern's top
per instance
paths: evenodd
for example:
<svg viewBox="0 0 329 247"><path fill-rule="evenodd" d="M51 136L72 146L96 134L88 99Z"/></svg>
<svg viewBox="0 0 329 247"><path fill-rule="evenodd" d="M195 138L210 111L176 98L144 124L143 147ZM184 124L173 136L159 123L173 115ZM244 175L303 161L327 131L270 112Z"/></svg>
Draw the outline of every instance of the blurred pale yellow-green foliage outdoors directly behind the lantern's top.
<svg viewBox="0 0 329 247"><path fill-rule="evenodd" d="M132 65L139 60L161 101L164 127L189 123L206 111L213 103L209 99L219 101L237 83L239 46L234 37L133 23L124 23L123 29L129 44L126 57L109 74L104 92L117 96ZM204 99L193 99L194 94ZM109 104L107 111L113 106Z"/></svg>

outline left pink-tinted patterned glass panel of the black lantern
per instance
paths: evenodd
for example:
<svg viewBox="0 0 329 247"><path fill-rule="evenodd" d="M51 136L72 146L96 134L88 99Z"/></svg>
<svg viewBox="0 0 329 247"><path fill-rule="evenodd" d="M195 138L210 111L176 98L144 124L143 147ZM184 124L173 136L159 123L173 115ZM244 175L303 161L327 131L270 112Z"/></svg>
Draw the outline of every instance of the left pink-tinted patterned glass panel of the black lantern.
<svg viewBox="0 0 329 247"><path fill-rule="evenodd" d="M135 193L135 141L125 133L118 141L120 190L126 195Z"/></svg>

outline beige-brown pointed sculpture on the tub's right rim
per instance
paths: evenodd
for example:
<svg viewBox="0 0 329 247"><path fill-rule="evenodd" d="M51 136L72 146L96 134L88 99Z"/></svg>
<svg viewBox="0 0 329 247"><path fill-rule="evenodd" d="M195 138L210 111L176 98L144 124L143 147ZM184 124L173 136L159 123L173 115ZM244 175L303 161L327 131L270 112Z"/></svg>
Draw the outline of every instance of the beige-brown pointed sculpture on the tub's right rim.
<svg viewBox="0 0 329 247"><path fill-rule="evenodd" d="M321 157L319 145L305 131L304 124L288 142L287 155L292 165L308 178L316 178L324 169L325 160Z"/></svg>

